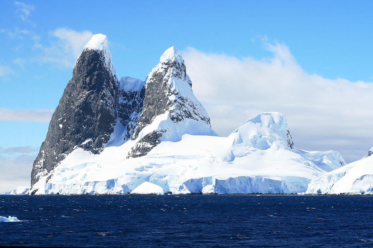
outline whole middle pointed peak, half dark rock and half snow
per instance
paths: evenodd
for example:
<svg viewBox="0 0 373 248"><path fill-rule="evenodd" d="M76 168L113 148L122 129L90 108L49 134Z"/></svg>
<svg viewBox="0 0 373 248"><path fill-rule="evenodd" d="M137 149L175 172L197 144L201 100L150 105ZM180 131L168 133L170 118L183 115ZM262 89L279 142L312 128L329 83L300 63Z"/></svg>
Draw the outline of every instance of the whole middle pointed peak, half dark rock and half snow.
<svg viewBox="0 0 373 248"><path fill-rule="evenodd" d="M162 141L177 142L184 134L214 135L210 118L192 92L181 53L167 49L145 81L144 102L128 157L146 155Z"/></svg>

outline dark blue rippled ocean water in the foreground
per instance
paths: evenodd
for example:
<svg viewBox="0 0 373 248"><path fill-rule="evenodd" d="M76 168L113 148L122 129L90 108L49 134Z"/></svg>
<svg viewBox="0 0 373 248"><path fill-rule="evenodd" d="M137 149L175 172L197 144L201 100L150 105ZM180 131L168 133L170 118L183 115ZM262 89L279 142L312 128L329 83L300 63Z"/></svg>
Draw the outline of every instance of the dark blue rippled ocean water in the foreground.
<svg viewBox="0 0 373 248"><path fill-rule="evenodd" d="M373 247L373 197L0 195L0 245Z"/></svg>

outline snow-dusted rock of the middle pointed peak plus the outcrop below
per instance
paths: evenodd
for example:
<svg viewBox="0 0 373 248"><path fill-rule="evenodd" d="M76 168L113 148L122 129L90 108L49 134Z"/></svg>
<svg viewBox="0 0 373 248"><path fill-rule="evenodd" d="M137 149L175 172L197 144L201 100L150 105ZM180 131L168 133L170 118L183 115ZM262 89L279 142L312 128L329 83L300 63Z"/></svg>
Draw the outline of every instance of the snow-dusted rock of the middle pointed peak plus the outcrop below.
<svg viewBox="0 0 373 248"><path fill-rule="evenodd" d="M157 116L165 113L168 114L173 126L185 120L195 120L211 128L210 118L193 95L191 87L192 82L186 74L186 67L180 51L175 47L167 49L145 82L142 111L138 117L132 140L138 139L144 127L150 125ZM157 130L144 134L132 147L128 158L146 155L162 141L162 137L167 131L168 129L157 128Z"/></svg>

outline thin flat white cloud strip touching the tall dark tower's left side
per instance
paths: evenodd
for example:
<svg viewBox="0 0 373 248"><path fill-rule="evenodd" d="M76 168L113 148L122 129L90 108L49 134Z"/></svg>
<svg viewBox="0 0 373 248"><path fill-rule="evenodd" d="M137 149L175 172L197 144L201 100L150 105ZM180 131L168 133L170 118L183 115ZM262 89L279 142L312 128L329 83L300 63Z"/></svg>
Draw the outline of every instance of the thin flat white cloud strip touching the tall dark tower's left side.
<svg viewBox="0 0 373 248"><path fill-rule="evenodd" d="M31 121L49 123L54 109L0 108L0 121Z"/></svg>

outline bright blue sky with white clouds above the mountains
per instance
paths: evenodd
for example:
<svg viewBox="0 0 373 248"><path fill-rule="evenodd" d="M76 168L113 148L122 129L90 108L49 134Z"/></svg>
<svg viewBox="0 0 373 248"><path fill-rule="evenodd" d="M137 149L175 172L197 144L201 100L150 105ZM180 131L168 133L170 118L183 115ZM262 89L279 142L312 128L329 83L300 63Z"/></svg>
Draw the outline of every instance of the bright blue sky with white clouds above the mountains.
<svg viewBox="0 0 373 248"><path fill-rule="evenodd" d="M228 136L282 112L296 148L346 162L373 146L372 1L8 1L0 3L0 192L30 184L72 67L107 35L117 77L145 80L169 47Z"/></svg>

